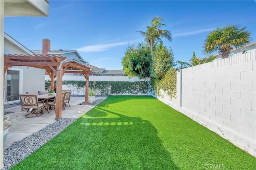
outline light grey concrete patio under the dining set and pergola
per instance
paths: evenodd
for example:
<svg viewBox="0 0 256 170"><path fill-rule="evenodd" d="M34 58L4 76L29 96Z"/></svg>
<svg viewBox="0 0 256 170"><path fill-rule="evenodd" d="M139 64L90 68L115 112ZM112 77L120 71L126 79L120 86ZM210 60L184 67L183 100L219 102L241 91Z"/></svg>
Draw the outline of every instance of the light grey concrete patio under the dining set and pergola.
<svg viewBox="0 0 256 170"><path fill-rule="evenodd" d="M98 99L106 99L106 97L95 97L95 100ZM78 105L82 102L84 102L84 97L71 96L70 107L67 106L65 107L65 110L62 110L62 118L77 119L94 107L89 105ZM56 121L54 109L49 110L50 113L44 110L44 115L40 117L26 118L25 115L27 114L27 111L21 111L20 105L13 106L14 107L6 108L5 111L14 112L8 115L11 119L16 119L17 123L9 128L6 141L4 142L4 149L10 147L14 142L20 141Z"/></svg>

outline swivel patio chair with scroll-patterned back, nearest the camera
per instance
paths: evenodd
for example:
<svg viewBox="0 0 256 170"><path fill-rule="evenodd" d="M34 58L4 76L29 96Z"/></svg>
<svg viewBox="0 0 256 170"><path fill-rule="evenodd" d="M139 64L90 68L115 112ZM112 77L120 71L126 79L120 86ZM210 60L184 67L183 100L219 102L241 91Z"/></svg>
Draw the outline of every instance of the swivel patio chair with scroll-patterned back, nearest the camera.
<svg viewBox="0 0 256 170"><path fill-rule="evenodd" d="M30 110L25 117L39 117L44 114L45 100L38 102L36 94L20 94L21 111ZM41 109L41 112L38 112ZM34 114L34 116L32 115Z"/></svg>

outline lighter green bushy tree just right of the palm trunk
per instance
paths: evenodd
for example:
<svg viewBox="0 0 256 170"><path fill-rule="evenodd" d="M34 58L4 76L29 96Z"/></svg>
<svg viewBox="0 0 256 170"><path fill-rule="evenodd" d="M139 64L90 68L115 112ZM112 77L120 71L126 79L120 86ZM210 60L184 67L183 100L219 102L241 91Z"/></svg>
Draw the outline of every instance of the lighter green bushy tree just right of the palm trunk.
<svg viewBox="0 0 256 170"><path fill-rule="evenodd" d="M150 76L158 80L162 79L169 68L175 66L172 49L169 50L162 44L158 45L153 51L153 63L150 70Z"/></svg>

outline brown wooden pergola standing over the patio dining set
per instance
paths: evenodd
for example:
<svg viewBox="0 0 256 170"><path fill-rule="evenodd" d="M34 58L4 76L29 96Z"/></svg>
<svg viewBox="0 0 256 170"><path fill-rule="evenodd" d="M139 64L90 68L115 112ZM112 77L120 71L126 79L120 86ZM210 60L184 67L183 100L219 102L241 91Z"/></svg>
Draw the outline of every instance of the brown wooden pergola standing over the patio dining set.
<svg viewBox="0 0 256 170"><path fill-rule="evenodd" d="M62 117L62 76L64 73L84 75L86 79L85 104L88 104L89 74L92 74L90 67L62 55L4 54L4 74L11 66L30 66L46 70L51 78L50 90L54 90L54 78L57 79L55 119Z"/></svg>

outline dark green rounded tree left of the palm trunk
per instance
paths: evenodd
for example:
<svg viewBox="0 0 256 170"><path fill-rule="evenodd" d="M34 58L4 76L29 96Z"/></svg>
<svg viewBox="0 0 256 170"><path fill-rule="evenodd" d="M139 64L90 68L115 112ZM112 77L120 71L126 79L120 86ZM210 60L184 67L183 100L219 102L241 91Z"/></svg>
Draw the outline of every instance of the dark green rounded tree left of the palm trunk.
<svg viewBox="0 0 256 170"><path fill-rule="evenodd" d="M123 70L128 76L150 77L151 63L150 47L144 43L139 43L137 46L128 45L122 58Z"/></svg>

